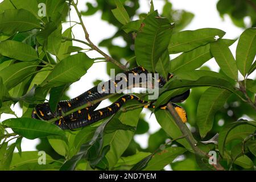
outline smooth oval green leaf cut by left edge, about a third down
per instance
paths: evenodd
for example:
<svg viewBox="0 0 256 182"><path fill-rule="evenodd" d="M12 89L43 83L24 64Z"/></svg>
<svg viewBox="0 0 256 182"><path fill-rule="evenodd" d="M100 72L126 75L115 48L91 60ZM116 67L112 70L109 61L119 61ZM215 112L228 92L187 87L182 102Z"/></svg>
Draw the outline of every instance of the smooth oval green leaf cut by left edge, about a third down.
<svg viewBox="0 0 256 182"><path fill-rule="evenodd" d="M20 61L32 61L38 59L38 54L34 48L14 40L0 42L0 54Z"/></svg>

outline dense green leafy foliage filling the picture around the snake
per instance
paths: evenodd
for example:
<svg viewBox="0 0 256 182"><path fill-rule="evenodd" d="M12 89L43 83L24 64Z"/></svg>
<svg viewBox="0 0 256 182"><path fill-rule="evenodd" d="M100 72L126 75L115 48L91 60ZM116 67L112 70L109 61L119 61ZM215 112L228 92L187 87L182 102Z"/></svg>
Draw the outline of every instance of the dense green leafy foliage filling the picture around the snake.
<svg viewBox="0 0 256 182"><path fill-rule="evenodd" d="M152 2L148 13L142 14L137 14L137 0L96 2L86 3L87 10L82 12L73 0L0 3L0 114L15 114L13 104L19 104L23 111L22 117L0 123L0 169L161 170L168 164L174 170L255 169L256 81L248 76L256 68L256 29L243 31L234 57L229 46L236 40L224 39L226 32L217 28L182 31L193 14L174 10L168 1L161 15ZM246 9L232 2L220 0L220 14L229 14L240 27L245 27L241 19L250 16L255 26L255 9L250 4L255 1L236 1ZM45 16L38 13L43 8L40 3L46 7ZM84 40L75 39L73 26L63 30L69 6L79 16L80 22L74 26L81 26ZM118 28L114 36L98 45L108 48L109 55L93 44L82 19L97 11L101 11L102 20ZM138 19L131 20L135 17ZM127 43L125 47L112 44L119 36ZM88 49L73 46L73 42L82 42ZM88 57L86 51L97 51L103 57ZM176 53L180 55L170 60ZM220 72L202 66L213 57ZM146 149L134 140L134 135L148 133L149 128L142 107L134 107L138 105L135 101L127 102L112 117L76 131L31 118L32 109L44 102L48 93L53 110L57 102L68 99L68 86L98 59L108 63L108 73L110 68L125 71L123 59L129 68L142 65L163 77L174 73L160 89L156 108L151 109L162 128L150 134ZM239 79L238 73L242 75ZM158 107L187 89L191 94L180 104L188 115L185 125L174 110ZM138 96L147 99L147 95ZM46 152L46 164L39 164L38 151L22 151L23 138L41 139L37 149ZM209 151L216 152L216 164L209 164ZM180 155L183 158L174 162Z"/></svg>

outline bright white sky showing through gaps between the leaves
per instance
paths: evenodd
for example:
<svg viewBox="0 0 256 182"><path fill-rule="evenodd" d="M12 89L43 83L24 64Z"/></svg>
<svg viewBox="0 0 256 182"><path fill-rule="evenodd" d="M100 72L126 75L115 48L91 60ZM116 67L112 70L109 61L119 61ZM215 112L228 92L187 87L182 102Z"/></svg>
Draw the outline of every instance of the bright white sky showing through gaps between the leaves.
<svg viewBox="0 0 256 182"><path fill-rule="evenodd" d="M0 0L2 2L2 0ZM85 3L91 2L95 3L93 0L79 0L79 10L86 10ZM224 17L224 20L220 18L218 15L218 11L216 9L216 3L217 0L171 0L170 1L173 5L174 9L177 10L187 10L193 14L195 14L195 18L192 20L192 22L185 28L185 30L196 30L199 28L220 28L221 30L224 30L226 32L226 35L224 38L226 39L235 39L237 38L241 33L242 29L238 28L233 25L232 21L228 16ZM139 13L147 13L150 9L150 1L149 0L140 0L141 7L139 8ZM154 6L155 9L159 10L159 13L162 12L162 7L164 5L163 0L154 0ZM96 14L92 16L83 16L82 17L85 23L85 26L89 32L90 40L96 45L101 42L101 40L110 38L114 33L117 31L117 28L109 24L108 22L105 22L101 20L101 12L98 11ZM71 10L71 20L75 20L79 22L79 19L77 18L77 15L75 13L75 10ZM66 30L69 27L69 23L63 24L63 31ZM75 34L76 39L85 40L84 38L84 32L82 31L81 26L76 25L72 29L73 34ZM122 46L125 44L125 42L122 39L115 39L113 41L113 44L117 44L119 46ZM79 46L83 48L85 47L84 44L73 42L73 46ZM237 42L233 44L233 46L230 47L232 50L233 55L235 55L236 52L236 46ZM102 51L108 52L106 48L101 47ZM95 51L90 51L87 53L90 57L102 57ZM218 71L219 67L214 62L214 60L210 60L205 65L208 65L213 71ZM251 75L251 78L255 78ZM73 98L76 96L79 96L81 93L84 93L86 90L92 88L93 81L94 80L109 80L109 76L106 73L106 64L105 63L96 63L94 64L89 70L88 73L86 73L85 76L81 77L81 79L75 83L73 83L68 90L68 96ZM109 105L109 101L104 101L101 104L101 107ZM22 110L19 108L18 105L15 105L13 110L15 113L20 117L22 115ZM143 110L144 113L146 113L146 120L150 124L150 130L149 133L154 133L155 131L158 131L160 129L160 126L158 122L155 119L154 114L150 117L150 111ZM7 118L13 118L13 115L10 114L2 114L1 120L3 121ZM136 135L135 140L141 144L143 148L147 147L147 140L148 140L149 134L143 134L143 135ZM35 146L39 143L38 139L35 140L28 140L23 138L22 140L22 150L23 151L31 151L36 150Z"/></svg>

